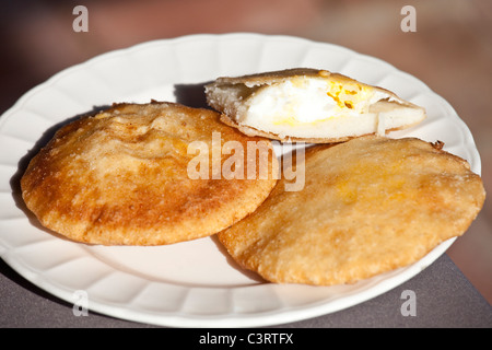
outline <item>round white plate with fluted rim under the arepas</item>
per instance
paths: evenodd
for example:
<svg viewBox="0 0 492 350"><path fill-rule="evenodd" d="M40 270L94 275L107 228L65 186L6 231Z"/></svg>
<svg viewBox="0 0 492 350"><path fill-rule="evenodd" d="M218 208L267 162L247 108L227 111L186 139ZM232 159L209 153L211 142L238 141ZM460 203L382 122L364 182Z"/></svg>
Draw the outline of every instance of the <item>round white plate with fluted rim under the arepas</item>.
<svg viewBox="0 0 492 350"><path fill-rule="evenodd" d="M480 174L471 133L452 106L382 60L286 36L238 33L155 40L63 70L0 118L0 256L24 278L69 303L83 290L91 311L174 327L301 320L364 302L415 276L454 240L417 264L352 285L281 285L241 270L213 237L160 247L87 246L57 237L25 210L19 194L21 171L33 155L30 150L46 142L60 122L113 102L154 98L199 106L200 84L219 75L292 67L341 72L424 106L429 117L423 124L391 137L442 140L447 151L468 160Z"/></svg>

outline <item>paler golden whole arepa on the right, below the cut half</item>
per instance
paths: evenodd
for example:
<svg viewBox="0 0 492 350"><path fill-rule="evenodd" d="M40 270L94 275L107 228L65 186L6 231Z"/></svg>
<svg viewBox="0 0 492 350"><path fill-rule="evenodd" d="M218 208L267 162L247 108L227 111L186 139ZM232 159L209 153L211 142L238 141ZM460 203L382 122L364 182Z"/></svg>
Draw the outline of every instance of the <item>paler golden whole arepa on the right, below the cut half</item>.
<svg viewBox="0 0 492 350"><path fill-rule="evenodd" d="M285 191L282 177L218 237L277 283L353 283L408 266L465 233L485 198L480 176L442 145L385 137L314 145L301 191Z"/></svg>

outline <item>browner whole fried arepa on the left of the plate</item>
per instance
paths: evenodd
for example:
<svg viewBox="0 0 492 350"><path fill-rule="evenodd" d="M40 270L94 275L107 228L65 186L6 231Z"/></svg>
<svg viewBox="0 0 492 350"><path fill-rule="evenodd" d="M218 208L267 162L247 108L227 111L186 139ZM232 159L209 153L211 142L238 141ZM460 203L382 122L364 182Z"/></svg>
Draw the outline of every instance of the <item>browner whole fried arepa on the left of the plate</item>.
<svg viewBox="0 0 492 350"><path fill-rule="evenodd" d="M153 101L78 119L30 162L21 179L24 201L44 226L89 244L162 245L214 234L254 211L278 178L271 143L219 118L210 109ZM190 178L196 154L188 145L204 142L211 158L212 132L222 143L237 141L246 150L258 141L272 152L268 178L213 178L211 159L209 178ZM230 156L222 153L221 166Z"/></svg>

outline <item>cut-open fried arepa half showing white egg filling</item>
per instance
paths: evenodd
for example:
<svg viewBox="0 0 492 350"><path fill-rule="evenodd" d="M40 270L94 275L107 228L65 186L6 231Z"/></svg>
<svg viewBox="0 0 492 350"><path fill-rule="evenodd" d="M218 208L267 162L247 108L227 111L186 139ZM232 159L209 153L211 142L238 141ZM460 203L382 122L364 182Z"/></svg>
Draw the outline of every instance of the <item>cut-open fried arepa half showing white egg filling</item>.
<svg viewBox="0 0 492 350"><path fill-rule="evenodd" d="M295 68L221 77L206 85L221 120L248 136L341 142L421 122L425 109L395 93L327 70Z"/></svg>

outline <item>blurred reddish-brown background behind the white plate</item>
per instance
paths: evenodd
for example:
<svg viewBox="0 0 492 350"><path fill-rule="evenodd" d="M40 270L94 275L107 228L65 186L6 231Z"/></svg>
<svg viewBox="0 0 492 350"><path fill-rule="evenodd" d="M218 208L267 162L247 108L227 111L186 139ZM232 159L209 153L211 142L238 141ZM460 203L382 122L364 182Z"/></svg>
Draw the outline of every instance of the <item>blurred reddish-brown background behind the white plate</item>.
<svg viewBox="0 0 492 350"><path fill-rule="evenodd" d="M142 42L197 33L294 35L380 58L446 98L473 133L492 194L490 0L0 1L0 113L58 71ZM89 10L75 33L75 5ZM401 9L417 32L402 32ZM447 254L492 304L492 205Z"/></svg>

